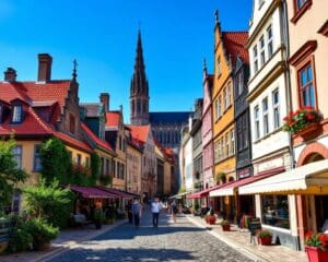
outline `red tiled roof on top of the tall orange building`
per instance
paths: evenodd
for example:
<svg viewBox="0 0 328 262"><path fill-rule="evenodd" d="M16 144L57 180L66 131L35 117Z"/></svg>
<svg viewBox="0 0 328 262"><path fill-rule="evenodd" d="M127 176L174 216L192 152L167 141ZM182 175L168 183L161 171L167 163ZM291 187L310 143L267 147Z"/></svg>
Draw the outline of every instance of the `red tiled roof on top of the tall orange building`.
<svg viewBox="0 0 328 262"><path fill-rule="evenodd" d="M246 48L248 32L222 32L222 36L227 56L231 56L233 64L235 64L237 56L245 63L249 63L248 50Z"/></svg>

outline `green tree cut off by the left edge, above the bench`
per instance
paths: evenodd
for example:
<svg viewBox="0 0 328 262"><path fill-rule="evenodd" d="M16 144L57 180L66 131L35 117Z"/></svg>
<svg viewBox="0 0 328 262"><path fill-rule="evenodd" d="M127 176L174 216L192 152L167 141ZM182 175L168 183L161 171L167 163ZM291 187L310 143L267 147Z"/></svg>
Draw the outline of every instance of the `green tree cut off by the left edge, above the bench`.
<svg viewBox="0 0 328 262"><path fill-rule="evenodd" d="M12 191L17 182L25 181L27 177L24 170L17 168L12 152L14 146L13 138L9 141L0 140L0 213L10 203Z"/></svg>

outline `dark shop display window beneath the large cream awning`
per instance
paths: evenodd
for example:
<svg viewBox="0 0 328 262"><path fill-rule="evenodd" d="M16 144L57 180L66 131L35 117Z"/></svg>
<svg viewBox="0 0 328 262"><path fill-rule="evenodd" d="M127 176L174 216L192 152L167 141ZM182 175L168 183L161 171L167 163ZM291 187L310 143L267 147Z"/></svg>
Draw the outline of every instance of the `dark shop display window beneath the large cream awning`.
<svg viewBox="0 0 328 262"><path fill-rule="evenodd" d="M290 228L288 195L262 195L262 223L266 225Z"/></svg>

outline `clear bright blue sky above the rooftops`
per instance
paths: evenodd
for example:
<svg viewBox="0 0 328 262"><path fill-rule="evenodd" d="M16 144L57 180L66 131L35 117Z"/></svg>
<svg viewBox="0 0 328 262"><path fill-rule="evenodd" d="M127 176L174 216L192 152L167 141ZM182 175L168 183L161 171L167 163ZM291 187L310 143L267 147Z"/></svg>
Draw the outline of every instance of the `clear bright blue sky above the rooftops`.
<svg viewBox="0 0 328 262"><path fill-rule="evenodd" d="M202 96L202 60L213 66L213 26L219 9L224 31L246 31L251 0L1 0L0 70L36 80L37 53L52 56L52 79L70 79L78 60L80 100L110 93L124 105L140 22L152 111L190 110Z"/></svg>

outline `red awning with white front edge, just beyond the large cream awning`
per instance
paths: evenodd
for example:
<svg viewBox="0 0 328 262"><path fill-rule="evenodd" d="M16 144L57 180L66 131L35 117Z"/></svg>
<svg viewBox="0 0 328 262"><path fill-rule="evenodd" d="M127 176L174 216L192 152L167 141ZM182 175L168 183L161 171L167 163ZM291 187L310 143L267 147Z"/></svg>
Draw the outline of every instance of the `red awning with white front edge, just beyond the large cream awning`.
<svg viewBox="0 0 328 262"><path fill-rule="evenodd" d="M210 196L234 195L239 187L270 177L272 175L272 172L266 172L259 176L251 176L237 181L225 183L223 187L210 191Z"/></svg>

